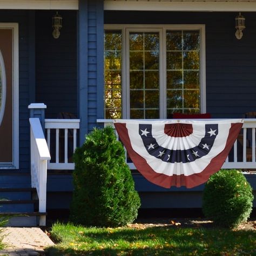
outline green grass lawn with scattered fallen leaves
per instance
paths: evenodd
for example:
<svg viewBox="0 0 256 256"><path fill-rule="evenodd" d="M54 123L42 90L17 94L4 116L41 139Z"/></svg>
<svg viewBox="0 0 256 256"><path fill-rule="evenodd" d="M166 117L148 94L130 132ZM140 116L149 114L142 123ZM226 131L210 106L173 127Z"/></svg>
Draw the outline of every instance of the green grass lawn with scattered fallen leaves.
<svg viewBox="0 0 256 256"><path fill-rule="evenodd" d="M147 226L87 228L56 223L46 255L256 255L256 232Z"/></svg>

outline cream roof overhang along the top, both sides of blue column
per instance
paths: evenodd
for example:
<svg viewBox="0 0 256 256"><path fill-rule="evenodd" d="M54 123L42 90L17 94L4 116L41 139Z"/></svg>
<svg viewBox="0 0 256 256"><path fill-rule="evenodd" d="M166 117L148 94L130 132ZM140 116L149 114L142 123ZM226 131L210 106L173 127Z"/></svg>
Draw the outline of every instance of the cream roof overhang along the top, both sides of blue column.
<svg viewBox="0 0 256 256"><path fill-rule="evenodd" d="M0 0L0 9L78 10L78 0ZM256 11L256 0L104 0L104 10Z"/></svg>

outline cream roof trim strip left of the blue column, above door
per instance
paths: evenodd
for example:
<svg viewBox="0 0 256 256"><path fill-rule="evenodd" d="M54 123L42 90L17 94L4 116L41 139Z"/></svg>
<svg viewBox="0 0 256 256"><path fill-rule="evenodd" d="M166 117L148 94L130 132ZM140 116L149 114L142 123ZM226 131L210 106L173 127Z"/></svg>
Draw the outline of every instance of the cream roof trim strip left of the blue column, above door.
<svg viewBox="0 0 256 256"><path fill-rule="evenodd" d="M0 9L78 10L78 0L0 0Z"/></svg>

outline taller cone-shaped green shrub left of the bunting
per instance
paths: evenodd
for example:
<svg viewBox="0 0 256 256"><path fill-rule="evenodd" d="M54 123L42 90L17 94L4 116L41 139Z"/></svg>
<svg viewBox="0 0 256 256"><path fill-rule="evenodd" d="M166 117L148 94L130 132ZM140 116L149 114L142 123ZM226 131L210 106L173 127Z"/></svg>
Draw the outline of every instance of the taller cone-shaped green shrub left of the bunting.
<svg viewBox="0 0 256 256"><path fill-rule="evenodd" d="M136 219L134 190L123 145L112 127L94 129L74 154L71 220L86 226L120 226Z"/></svg>

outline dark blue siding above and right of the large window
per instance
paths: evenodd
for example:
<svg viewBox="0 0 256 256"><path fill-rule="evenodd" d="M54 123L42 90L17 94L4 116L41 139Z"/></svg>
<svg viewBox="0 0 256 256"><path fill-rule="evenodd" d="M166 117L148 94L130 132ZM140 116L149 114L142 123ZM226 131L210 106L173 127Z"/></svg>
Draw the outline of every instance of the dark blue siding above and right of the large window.
<svg viewBox="0 0 256 256"><path fill-rule="evenodd" d="M237 12L105 11L105 24L205 24L206 107L213 118L256 111L256 16L243 14L246 29L235 38Z"/></svg>

